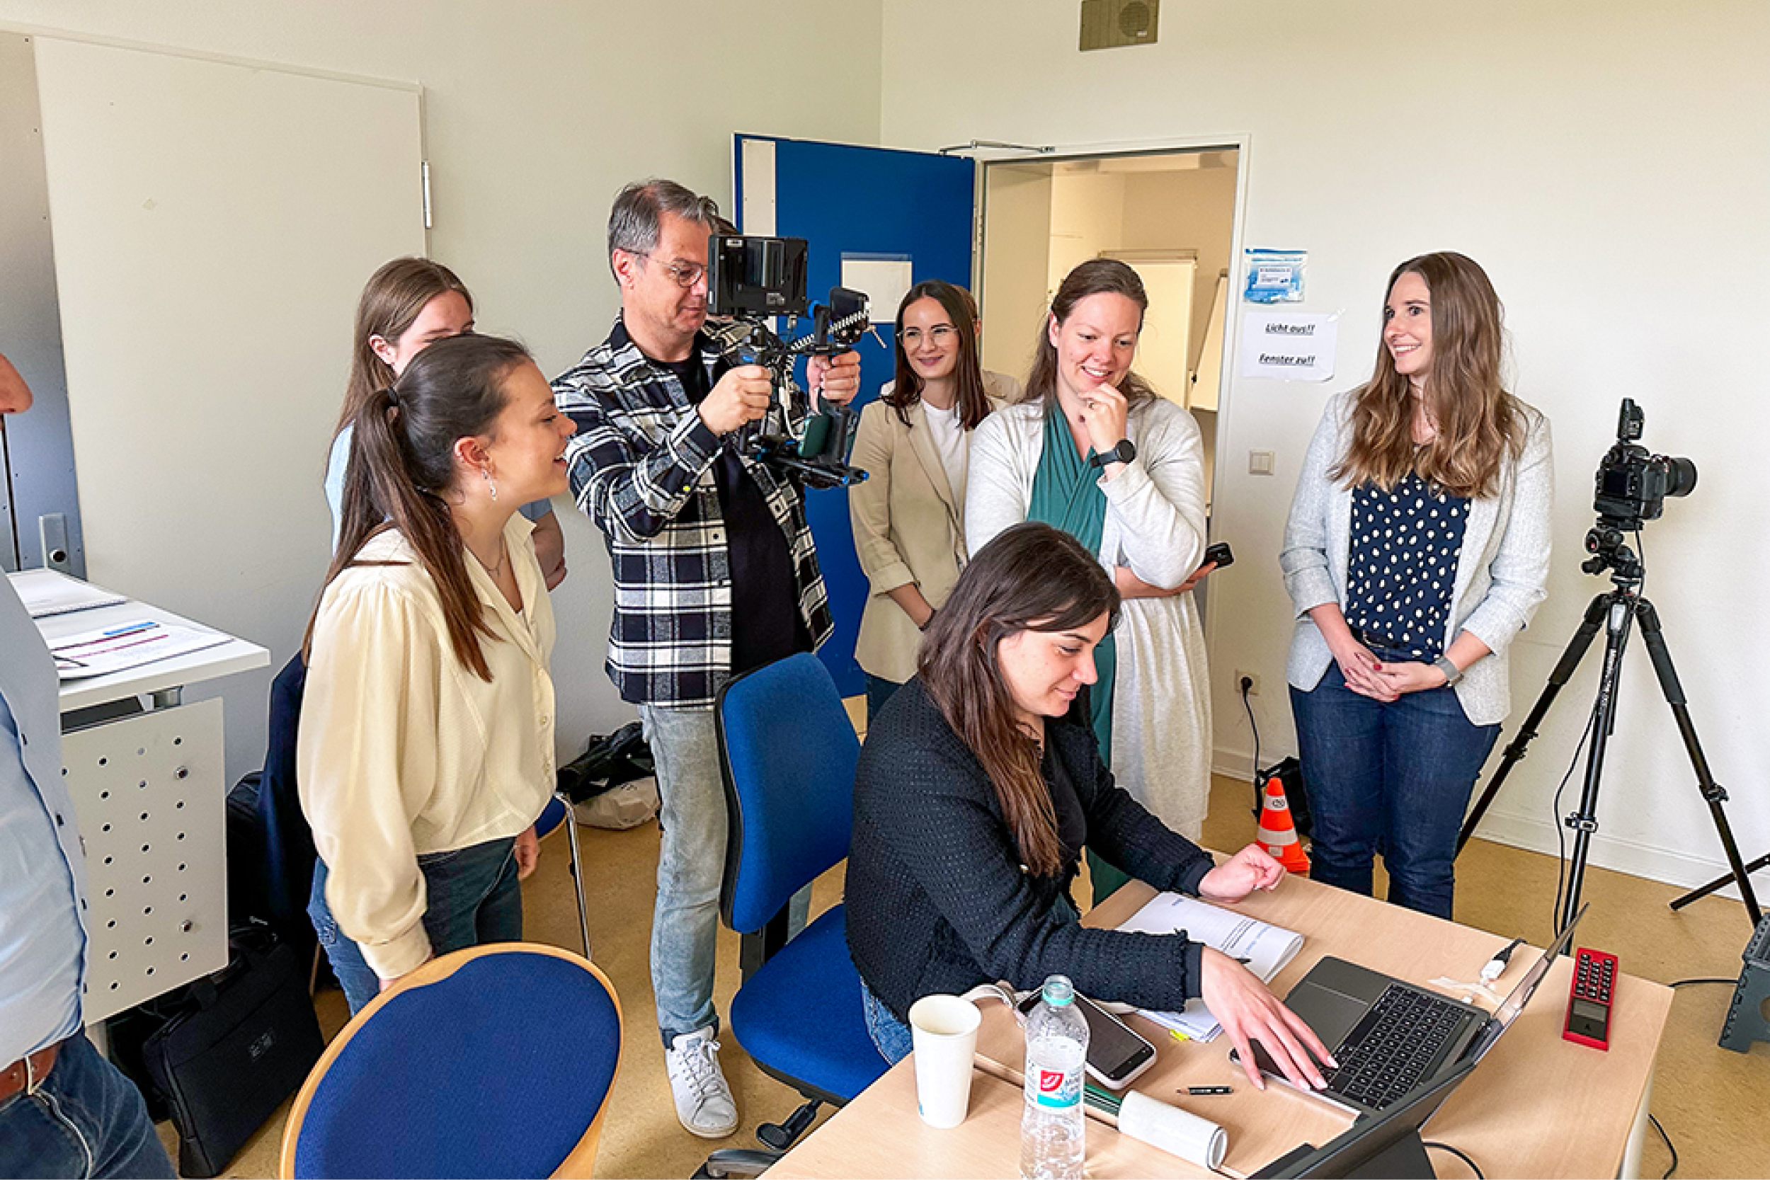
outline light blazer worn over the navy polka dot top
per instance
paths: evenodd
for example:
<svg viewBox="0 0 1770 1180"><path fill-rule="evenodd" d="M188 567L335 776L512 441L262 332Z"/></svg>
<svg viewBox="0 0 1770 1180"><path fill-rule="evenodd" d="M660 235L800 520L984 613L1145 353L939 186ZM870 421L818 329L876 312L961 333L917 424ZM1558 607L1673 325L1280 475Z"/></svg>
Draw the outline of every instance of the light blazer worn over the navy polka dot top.
<svg viewBox="0 0 1770 1180"><path fill-rule="evenodd" d="M1549 419L1522 405L1524 448L1499 465L1494 495L1469 501L1469 518L1457 557L1457 582L1444 621L1444 646L1469 632L1494 653L1464 669L1457 701L1474 725L1497 725L1512 711L1506 647L1536 614L1549 580L1549 510L1554 502L1554 462ZM1328 472L1351 446L1352 395L1336 395L1303 456L1297 494L1278 556L1285 589L1297 614L1285 667L1292 688L1308 692L1333 660L1310 609L1345 609L1347 561L1352 548L1352 488Z"/></svg>

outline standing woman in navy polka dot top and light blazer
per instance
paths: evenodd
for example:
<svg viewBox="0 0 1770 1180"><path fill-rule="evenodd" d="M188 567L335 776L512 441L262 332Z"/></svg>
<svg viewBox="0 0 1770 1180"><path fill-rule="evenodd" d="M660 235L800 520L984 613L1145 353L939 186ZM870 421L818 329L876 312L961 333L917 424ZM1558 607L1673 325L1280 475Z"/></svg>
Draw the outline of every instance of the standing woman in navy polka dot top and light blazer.
<svg viewBox="0 0 1770 1180"><path fill-rule="evenodd" d="M1549 419L1501 386L1501 334L1473 260L1398 265L1375 373L1322 414L1280 556L1313 876L1370 893L1381 851L1389 900L1443 918L1549 575Z"/></svg>

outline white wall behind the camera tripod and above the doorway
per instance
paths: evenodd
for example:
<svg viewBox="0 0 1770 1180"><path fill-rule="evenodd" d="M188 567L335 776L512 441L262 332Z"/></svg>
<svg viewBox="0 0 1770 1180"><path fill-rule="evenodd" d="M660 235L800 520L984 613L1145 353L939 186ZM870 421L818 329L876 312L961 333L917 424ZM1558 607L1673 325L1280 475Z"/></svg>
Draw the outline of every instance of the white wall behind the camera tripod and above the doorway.
<svg viewBox="0 0 1770 1180"><path fill-rule="evenodd" d="M1243 242L1310 249L1303 310L1343 311L1335 380L1237 379L1225 400L1214 527L1241 563L1218 587L1234 593L1214 603L1220 764L1248 764L1235 669L1262 678L1267 757L1292 747L1290 605L1276 554L1322 405L1370 370L1389 267L1460 249L1506 303L1517 393L1554 421L1556 559L1549 601L1513 646L1513 722L1589 596L1609 587L1579 573L1581 538L1618 398L1634 396L1648 412L1646 442L1703 469L1696 494L1650 525L1650 593L1710 761L1733 791L1740 842L1747 856L1770 847L1770 382L1759 359L1770 5L1195 0L1163 23L1161 44L1099 53L1076 51L1073 0L1018 0L1012 12L887 5L885 143L1246 136ZM1253 448L1278 453L1276 478L1244 474L1241 455ZM1549 796L1595 663L1563 692L1490 833L1554 849ZM1712 874L1719 844L1641 651L1621 718L1595 862L1678 881Z"/></svg>

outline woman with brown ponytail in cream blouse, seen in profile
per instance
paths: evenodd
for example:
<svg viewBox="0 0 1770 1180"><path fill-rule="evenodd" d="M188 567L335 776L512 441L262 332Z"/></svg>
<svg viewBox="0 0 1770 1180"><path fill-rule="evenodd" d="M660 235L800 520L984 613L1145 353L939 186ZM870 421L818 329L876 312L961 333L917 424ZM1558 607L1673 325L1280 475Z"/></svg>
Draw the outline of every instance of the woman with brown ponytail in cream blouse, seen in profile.
<svg viewBox="0 0 1770 1180"><path fill-rule="evenodd" d="M517 504L565 490L572 421L522 345L462 334L352 426L296 757L308 913L356 1012L432 955L522 936L554 619Z"/></svg>

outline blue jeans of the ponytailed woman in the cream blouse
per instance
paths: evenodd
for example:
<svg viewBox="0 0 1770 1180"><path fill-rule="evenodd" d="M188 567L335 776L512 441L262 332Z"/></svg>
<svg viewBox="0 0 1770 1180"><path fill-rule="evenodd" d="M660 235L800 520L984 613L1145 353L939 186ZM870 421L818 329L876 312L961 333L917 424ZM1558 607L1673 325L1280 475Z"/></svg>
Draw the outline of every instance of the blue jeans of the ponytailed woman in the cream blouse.
<svg viewBox="0 0 1770 1180"><path fill-rule="evenodd" d="M517 842L487 840L418 858L425 874L425 934L430 950L446 955L464 946L522 941L522 888L517 885ZM326 904L326 862L313 862L308 916L350 1001L352 1015L381 992L381 977L363 959Z"/></svg>

